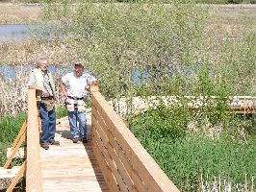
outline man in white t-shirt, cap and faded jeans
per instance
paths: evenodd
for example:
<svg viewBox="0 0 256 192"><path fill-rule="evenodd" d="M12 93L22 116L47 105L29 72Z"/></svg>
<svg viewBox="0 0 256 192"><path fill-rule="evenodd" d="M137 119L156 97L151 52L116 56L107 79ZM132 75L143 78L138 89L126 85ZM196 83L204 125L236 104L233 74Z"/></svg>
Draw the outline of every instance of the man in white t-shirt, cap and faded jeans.
<svg viewBox="0 0 256 192"><path fill-rule="evenodd" d="M64 75L61 81L73 143L77 143L79 140L82 140L83 143L87 142L85 99L90 91L90 85L98 84L98 80L84 70L84 65L81 62L76 62L74 71Z"/></svg>

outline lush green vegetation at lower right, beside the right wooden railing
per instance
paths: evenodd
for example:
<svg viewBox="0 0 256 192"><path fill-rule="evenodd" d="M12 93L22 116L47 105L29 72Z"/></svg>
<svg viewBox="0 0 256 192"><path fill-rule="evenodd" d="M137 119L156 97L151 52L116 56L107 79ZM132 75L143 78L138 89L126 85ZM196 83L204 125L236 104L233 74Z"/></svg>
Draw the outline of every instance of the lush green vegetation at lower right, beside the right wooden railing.
<svg viewBox="0 0 256 192"><path fill-rule="evenodd" d="M243 119L234 116L225 131L219 132L216 125L207 128L206 122L192 130L195 114L179 109L150 109L130 120L131 131L168 177L181 191L202 191L202 185L223 190L227 183L232 191L253 191L256 137L239 132Z"/></svg>

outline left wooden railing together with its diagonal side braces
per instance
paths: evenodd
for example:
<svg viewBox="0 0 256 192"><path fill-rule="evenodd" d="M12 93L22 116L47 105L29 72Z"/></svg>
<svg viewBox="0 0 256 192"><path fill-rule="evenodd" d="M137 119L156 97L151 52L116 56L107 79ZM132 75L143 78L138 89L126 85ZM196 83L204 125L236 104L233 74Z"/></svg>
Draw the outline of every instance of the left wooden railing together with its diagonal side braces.
<svg viewBox="0 0 256 192"><path fill-rule="evenodd" d="M4 165L4 170L10 168L13 157L16 155L24 141L26 141L26 159L19 167L11 185L7 189L7 192L13 191L14 186L22 176L26 178L26 191L42 191L39 156L38 107L35 89L28 90L28 119L23 123L18 135L13 141L11 156Z"/></svg>

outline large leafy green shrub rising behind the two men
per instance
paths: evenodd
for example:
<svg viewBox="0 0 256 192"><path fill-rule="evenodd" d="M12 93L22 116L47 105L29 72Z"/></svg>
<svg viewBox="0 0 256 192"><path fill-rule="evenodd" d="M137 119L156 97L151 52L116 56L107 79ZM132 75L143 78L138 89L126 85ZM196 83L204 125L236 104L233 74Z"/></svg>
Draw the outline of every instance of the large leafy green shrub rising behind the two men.
<svg viewBox="0 0 256 192"><path fill-rule="evenodd" d="M63 7L49 5L47 9L47 19L61 18L68 22L64 32L75 34L78 55L83 55L90 71L100 79L100 89L108 99L120 94L169 93L172 79L166 73L176 72L180 67L182 70L181 63L192 64L194 52L201 43L204 9L193 4L175 1L172 6L83 4L72 7L64 2ZM150 83L143 86L145 89L131 82L135 68L147 71L150 76Z"/></svg>

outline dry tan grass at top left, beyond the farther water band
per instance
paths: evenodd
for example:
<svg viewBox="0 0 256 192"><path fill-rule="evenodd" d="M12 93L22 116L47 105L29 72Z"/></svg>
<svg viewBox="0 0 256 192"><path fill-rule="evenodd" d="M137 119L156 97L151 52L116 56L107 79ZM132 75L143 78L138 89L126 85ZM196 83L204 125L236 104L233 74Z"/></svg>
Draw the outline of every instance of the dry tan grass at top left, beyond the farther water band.
<svg viewBox="0 0 256 192"><path fill-rule="evenodd" d="M39 23L40 12L38 6L25 7L21 4L1 3L0 24Z"/></svg>

